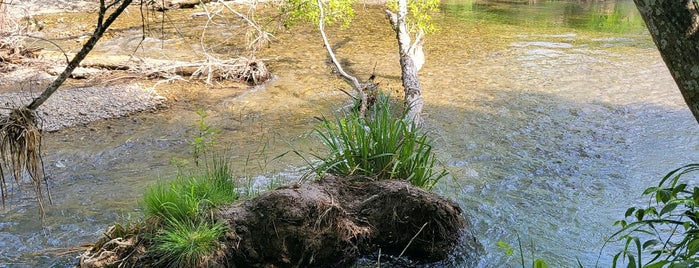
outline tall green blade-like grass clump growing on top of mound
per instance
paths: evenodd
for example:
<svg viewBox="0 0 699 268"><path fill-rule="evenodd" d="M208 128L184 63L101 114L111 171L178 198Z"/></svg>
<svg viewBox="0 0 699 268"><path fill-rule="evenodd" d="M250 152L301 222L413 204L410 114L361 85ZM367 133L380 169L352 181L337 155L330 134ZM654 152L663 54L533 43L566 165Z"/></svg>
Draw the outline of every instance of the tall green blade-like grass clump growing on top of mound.
<svg viewBox="0 0 699 268"><path fill-rule="evenodd" d="M329 155L318 157L321 175L403 179L431 189L447 172L435 171L431 141L416 125L393 116L390 97L379 94L377 103L363 118L352 111L335 121L323 120L315 133Z"/></svg>

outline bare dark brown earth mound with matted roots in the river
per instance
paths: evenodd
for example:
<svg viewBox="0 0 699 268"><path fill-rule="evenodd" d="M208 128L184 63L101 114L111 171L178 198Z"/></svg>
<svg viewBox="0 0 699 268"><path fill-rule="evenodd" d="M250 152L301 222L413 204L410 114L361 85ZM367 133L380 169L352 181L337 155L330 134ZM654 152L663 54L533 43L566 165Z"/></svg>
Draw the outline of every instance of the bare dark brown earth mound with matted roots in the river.
<svg viewBox="0 0 699 268"><path fill-rule="evenodd" d="M347 182L326 177L278 189L221 211L233 226L240 266L315 266L354 261L381 249L419 261L445 259L475 241L459 206L404 181Z"/></svg>

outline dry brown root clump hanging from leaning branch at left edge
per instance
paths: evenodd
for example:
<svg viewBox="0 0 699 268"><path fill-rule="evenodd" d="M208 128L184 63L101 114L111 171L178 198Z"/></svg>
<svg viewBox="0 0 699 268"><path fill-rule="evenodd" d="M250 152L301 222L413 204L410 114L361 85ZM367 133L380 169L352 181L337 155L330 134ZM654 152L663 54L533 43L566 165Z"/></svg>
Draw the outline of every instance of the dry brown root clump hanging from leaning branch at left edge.
<svg viewBox="0 0 699 268"><path fill-rule="evenodd" d="M51 203L48 183L44 179L41 129L38 123L36 113L27 108L13 109L8 116L0 117L0 191L3 208L8 194L8 176L13 177L18 184L25 175L29 177L42 214L42 182L46 184L47 196Z"/></svg>

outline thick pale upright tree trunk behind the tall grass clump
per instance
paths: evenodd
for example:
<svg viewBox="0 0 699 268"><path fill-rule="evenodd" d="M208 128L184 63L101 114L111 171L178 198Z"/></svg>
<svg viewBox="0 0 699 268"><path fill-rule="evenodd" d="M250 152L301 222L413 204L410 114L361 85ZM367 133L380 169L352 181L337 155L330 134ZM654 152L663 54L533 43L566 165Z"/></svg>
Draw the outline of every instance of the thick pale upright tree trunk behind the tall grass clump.
<svg viewBox="0 0 699 268"><path fill-rule="evenodd" d="M398 14L388 10L386 14L388 19L391 20L391 25L398 39L401 80L403 80L403 90L405 92L405 105L409 109L406 118L415 124L420 124L420 113L422 112L423 101L420 92L420 80L418 80L417 77L419 68L415 65L415 60L411 52L415 53L417 51L422 51L422 49L419 48L419 40L416 40L417 42L411 45L412 42L410 40L410 33L408 32L408 25L405 22L405 18L408 15L407 0L398 0ZM418 48L419 50L417 50Z"/></svg>

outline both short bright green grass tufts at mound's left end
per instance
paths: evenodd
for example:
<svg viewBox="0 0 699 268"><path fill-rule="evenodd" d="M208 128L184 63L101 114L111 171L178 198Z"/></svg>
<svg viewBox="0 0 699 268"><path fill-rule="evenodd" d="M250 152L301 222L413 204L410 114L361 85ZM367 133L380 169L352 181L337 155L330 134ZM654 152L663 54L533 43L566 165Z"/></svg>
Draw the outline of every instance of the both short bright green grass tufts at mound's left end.
<svg viewBox="0 0 699 268"><path fill-rule="evenodd" d="M149 187L143 197L147 218L156 223L147 254L157 265L205 267L215 264L226 227L210 219L210 209L237 199L229 164L206 161L200 175L180 176Z"/></svg>

